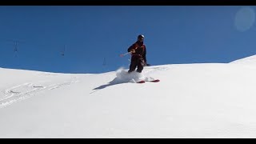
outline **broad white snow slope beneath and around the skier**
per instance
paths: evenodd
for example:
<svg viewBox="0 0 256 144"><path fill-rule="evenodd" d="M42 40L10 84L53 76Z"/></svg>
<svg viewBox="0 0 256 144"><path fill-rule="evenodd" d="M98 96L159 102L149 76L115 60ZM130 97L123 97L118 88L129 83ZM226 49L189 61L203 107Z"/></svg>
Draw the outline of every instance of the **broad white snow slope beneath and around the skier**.
<svg viewBox="0 0 256 144"><path fill-rule="evenodd" d="M0 68L0 138L256 138L256 65L242 61L131 75ZM161 82L132 80L150 77Z"/></svg>

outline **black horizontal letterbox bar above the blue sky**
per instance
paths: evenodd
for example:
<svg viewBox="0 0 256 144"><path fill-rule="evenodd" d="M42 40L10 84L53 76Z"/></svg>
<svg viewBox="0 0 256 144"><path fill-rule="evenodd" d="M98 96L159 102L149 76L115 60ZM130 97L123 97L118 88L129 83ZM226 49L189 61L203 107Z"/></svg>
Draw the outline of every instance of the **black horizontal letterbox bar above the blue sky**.
<svg viewBox="0 0 256 144"><path fill-rule="evenodd" d="M256 0L2 0L1 6L256 6Z"/></svg>

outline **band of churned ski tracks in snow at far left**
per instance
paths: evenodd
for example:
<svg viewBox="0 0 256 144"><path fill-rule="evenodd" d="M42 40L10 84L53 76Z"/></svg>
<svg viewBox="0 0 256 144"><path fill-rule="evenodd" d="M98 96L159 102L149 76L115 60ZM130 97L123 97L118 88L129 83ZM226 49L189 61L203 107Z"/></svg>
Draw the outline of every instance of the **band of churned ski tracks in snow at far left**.
<svg viewBox="0 0 256 144"><path fill-rule="evenodd" d="M10 87L6 90L2 90L0 93L0 108L9 106L14 102L19 102L21 100L25 100L26 98L30 98L31 96L45 90L54 90L62 88L63 86L70 86L72 83L78 82L78 80L66 81L51 85L48 84L48 86L47 82L50 81L25 82L20 85Z"/></svg>

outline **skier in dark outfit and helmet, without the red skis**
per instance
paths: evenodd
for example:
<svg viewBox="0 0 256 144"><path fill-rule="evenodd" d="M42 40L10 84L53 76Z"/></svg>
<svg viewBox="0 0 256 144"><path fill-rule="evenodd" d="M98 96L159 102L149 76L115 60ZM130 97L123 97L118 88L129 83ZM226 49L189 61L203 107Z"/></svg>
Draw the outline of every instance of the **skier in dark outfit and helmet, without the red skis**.
<svg viewBox="0 0 256 144"><path fill-rule="evenodd" d="M130 70L128 73L133 72L137 67L137 72L142 73L143 66L150 66L146 63L146 46L144 45L144 35L138 35L137 42L128 48L131 54Z"/></svg>

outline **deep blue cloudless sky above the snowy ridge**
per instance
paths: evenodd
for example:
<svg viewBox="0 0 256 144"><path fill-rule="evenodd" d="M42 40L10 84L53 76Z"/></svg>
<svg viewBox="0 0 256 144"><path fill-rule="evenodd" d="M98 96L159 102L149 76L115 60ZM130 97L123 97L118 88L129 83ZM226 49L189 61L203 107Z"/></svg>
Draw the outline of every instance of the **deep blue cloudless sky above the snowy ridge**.
<svg viewBox="0 0 256 144"><path fill-rule="evenodd" d="M254 10L256 6L0 6L0 67L61 73L128 68L130 56L119 54L138 34L145 35L153 66L231 62L256 54Z"/></svg>

